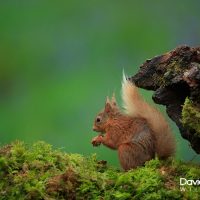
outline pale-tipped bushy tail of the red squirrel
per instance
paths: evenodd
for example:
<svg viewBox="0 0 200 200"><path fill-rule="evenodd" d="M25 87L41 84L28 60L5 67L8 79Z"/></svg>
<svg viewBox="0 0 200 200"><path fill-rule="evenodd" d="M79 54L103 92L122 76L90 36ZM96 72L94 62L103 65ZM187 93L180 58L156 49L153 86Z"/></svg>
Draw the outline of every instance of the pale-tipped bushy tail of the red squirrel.
<svg viewBox="0 0 200 200"><path fill-rule="evenodd" d="M145 118L156 138L156 153L159 158L167 158L175 153L175 140L163 115L146 103L137 87L125 75L122 81L122 99L126 113L132 117Z"/></svg>

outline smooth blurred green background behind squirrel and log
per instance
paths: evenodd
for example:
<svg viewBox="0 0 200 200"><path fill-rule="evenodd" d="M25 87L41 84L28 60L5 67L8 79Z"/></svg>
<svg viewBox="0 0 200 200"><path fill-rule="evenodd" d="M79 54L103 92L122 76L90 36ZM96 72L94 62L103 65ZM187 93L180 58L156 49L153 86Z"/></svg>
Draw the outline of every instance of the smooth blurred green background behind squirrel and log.
<svg viewBox="0 0 200 200"><path fill-rule="evenodd" d="M44 140L118 166L92 124L122 70L200 44L200 1L0 1L0 142ZM152 93L142 91L151 102ZM164 112L164 107L160 106ZM177 158L199 160L176 134Z"/></svg>

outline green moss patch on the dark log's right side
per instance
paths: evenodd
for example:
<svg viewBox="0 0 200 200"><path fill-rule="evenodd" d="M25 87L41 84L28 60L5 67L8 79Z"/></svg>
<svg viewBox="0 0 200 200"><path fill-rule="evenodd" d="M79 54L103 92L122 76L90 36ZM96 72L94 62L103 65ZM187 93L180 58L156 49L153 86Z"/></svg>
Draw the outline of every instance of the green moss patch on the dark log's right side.
<svg viewBox="0 0 200 200"><path fill-rule="evenodd" d="M185 127L195 130L200 137L200 107L195 105L189 98L185 99L182 109L182 123Z"/></svg>

